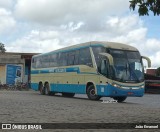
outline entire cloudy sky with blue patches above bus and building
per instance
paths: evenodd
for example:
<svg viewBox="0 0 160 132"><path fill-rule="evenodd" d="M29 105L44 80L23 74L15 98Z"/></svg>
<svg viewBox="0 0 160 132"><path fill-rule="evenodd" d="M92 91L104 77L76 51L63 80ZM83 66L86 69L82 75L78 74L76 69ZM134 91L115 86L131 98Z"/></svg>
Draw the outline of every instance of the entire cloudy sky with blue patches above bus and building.
<svg viewBox="0 0 160 132"><path fill-rule="evenodd" d="M0 0L7 52L45 53L88 41L136 47L160 67L160 16L139 16L129 0Z"/></svg>

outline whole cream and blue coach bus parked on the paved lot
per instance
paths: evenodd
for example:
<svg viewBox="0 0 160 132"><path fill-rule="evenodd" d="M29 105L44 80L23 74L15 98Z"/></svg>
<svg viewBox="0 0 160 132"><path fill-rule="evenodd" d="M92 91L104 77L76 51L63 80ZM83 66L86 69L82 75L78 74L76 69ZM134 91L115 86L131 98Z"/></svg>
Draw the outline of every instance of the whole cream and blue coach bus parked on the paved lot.
<svg viewBox="0 0 160 132"><path fill-rule="evenodd" d="M33 56L31 87L42 95L87 94L90 100L111 97L123 102L127 97L144 95L143 59L150 67L148 57L126 44L77 44Z"/></svg>

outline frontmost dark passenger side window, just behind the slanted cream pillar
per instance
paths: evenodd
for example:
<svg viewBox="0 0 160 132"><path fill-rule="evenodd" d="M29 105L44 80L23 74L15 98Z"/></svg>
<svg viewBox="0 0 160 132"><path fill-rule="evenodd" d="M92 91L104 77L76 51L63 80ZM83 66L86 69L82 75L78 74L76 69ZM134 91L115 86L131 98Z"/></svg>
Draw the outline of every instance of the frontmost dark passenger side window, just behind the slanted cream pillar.
<svg viewBox="0 0 160 132"><path fill-rule="evenodd" d="M80 49L79 64L92 66L92 59L89 48Z"/></svg>

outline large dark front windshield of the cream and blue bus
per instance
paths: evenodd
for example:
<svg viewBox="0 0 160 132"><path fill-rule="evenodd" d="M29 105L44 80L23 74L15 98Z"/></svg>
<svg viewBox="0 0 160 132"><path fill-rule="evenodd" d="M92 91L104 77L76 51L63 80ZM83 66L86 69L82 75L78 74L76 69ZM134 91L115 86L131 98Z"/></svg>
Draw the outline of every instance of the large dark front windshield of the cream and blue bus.
<svg viewBox="0 0 160 132"><path fill-rule="evenodd" d="M110 50L113 56L113 79L120 82L144 81L141 56L138 51Z"/></svg>

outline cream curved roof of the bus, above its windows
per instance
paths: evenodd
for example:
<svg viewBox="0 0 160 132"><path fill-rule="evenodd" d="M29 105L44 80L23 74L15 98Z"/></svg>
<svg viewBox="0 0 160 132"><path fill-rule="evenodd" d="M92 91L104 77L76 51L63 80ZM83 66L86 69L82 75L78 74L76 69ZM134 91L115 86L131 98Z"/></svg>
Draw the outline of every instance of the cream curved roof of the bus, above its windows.
<svg viewBox="0 0 160 132"><path fill-rule="evenodd" d="M78 49L81 47L89 47L89 46L104 46L106 48L111 48L111 49L138 51L137 48L130 46L130 45L122 44L122 43L106 42L106 41L90 41L90 42L86 42L86 43L76 44L76 45L64 47L61 49L57 49L57 50L54 50L54 51L51 51L48 53L38 54L38 55L35 55L34 57L41 56L41 55L48 55L48 54L52 54L52 53L60 52L60 51L65 52L65 51L69 51L72 49Z"/></svg>

